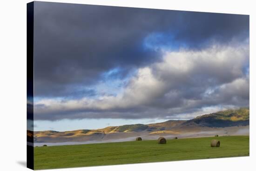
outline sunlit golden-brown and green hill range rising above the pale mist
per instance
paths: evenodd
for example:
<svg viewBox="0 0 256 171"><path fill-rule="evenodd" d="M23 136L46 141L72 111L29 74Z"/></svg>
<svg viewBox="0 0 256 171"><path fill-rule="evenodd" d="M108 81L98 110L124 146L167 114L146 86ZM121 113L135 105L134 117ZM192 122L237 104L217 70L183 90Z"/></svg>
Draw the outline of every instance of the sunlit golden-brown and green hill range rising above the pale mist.
<svg viewBox="0 0 256 171"><path fill-rule="evenodd" d="M176 134L188 131L204 131L204 128L230 127L249 125L249 108L240 108L237 110L226 110L198 116L191 120L168 120L162 123L154 124L133 124L121 126L108 126L95 130L74 130L66 132L40 131L28 133L28 140L34 142L67 142L67 141L88 141L101 140L107 134L144 132L145 134ZM132 135L130 135L132 136ZM124 138L125 136L122 136Z"/></svg>

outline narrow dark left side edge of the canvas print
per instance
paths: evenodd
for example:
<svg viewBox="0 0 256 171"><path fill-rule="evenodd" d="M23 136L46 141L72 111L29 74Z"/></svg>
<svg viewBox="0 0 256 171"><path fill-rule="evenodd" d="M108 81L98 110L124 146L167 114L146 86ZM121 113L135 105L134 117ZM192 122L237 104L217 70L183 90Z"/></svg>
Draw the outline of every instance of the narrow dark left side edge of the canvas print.
<svg viewBox="0 0 256 171"><path fill-rule="evenodd" d="M34 170L34 2L27 3L27 168Z"/></svg>

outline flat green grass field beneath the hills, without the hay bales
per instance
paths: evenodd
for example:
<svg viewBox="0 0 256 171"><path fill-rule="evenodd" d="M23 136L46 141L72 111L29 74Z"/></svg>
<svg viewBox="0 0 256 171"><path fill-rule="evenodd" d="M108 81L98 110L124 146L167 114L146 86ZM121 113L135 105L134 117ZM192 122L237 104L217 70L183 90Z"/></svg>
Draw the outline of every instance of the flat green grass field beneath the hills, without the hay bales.
<svg viewBox="0 0 256 171"><path fill-rule="evenodd" d="M210 147L211 139L219 139L221 146ZM249 136L168 139L166 145L159 145L156 140L150 140L35 147L34 169L237 156L249 156Z"/></svg>

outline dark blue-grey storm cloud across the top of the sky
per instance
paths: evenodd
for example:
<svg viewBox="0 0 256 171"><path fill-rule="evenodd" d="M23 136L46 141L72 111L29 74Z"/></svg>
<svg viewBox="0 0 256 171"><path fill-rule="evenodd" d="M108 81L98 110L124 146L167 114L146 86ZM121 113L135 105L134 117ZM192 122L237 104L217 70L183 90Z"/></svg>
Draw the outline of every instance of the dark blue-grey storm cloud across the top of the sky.
<svg viewBox="0 0 256 171"><path fill-rule="evenodd" d="M249 37L247 15L35 2L34 19L34 92L39 97L93 95L76 87L93 85L116 67L125 77L133 68L161 60L159 51L144 46L155 33L163 36L153 46L190 49Z"/></svg>

